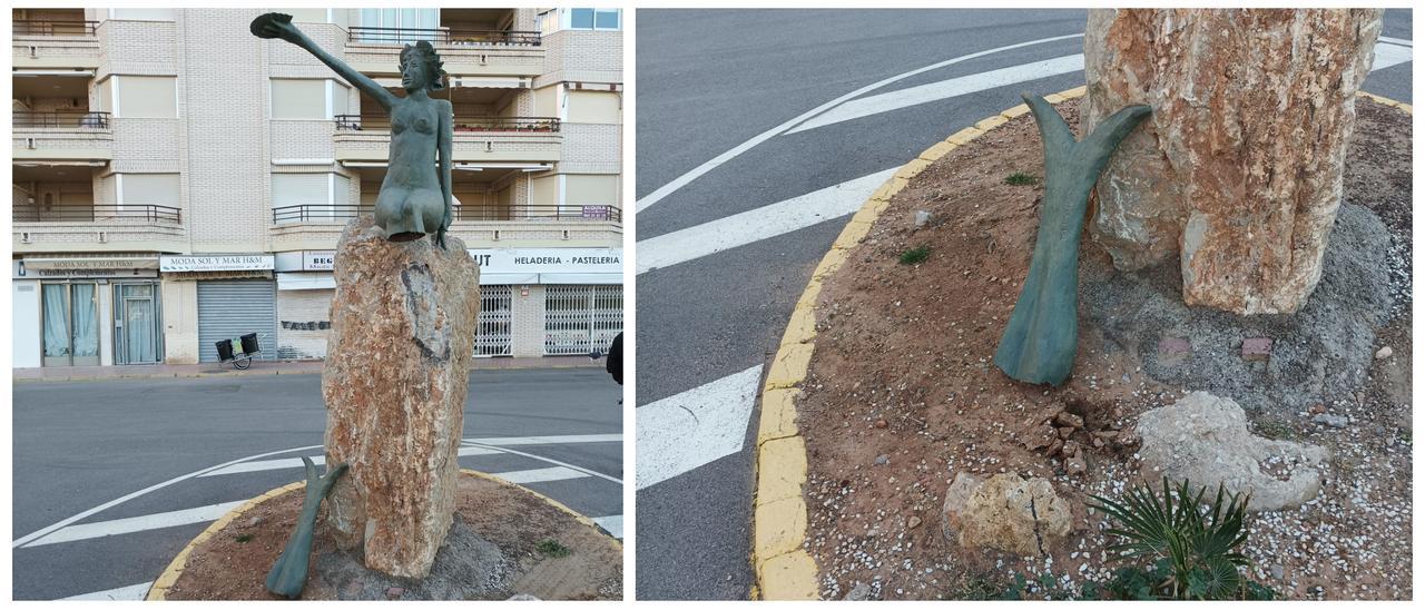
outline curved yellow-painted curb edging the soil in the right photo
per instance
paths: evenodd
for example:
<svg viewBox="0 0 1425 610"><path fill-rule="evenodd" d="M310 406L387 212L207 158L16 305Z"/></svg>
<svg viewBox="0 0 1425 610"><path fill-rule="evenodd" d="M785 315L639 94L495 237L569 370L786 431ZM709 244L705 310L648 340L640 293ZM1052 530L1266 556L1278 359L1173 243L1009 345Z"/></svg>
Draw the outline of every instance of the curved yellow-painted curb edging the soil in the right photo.
<svg viewBox="0 0 1425 610"><path fill-rule="evenodd" d="M1045 100L1059 104L1083 94L1084 87L1074 87L1045 95ZM955 148L1025 114L1029 114L1029 107L1025 104L1005 110L975 123L973 127L956 131L902 165L861 205L861 211L851 217L832 242L831 251L817 265L807 289L797 299L761 392L762 415L757 430L754 463L757 490L752 496L752 569L757 572L754 599L821 599L817 562L805 547L807 502L802 487L807 483L807 445L797 428L797 396L801 393L799 386L807 379L807 369L817 346L815 308L822 284L846 262L851 251L865 239L871 227L891 205L891 198L901 192L911 178Z"/></svg>

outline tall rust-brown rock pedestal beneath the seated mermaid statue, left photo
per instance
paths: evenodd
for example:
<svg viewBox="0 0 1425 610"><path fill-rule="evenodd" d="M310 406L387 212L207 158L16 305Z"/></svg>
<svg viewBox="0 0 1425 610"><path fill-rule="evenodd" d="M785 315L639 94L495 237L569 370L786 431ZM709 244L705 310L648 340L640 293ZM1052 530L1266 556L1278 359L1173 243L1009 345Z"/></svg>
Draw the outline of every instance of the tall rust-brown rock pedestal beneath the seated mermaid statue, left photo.
<svg viewBox="0 0 1425 610"><path fill-rule="evenodd" d="M351 465L328 523L342 549L425 577L450 529L480 269L455 237L393 244L370 217L346 225L322 371L326 463Z"/></svg>

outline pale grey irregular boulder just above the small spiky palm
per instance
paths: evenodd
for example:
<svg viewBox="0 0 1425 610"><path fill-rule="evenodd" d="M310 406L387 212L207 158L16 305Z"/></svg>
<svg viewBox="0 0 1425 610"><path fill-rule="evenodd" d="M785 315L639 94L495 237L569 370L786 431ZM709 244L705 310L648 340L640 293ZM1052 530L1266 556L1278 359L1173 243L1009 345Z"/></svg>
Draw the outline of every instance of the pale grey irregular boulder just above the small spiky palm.
<svg viewBox="0 0 1425 610"><path fill-rule="evenodd" d="M1230 398L1193 392L1143 413L1136 429L1149 483L1167 475L1174 483L1206 486L1208 496L1221 483L1228 493L1251 493L1248 510L1294 509L1321 490L1317 467L1327 450L1253 436L1247 413Z"/></svg>

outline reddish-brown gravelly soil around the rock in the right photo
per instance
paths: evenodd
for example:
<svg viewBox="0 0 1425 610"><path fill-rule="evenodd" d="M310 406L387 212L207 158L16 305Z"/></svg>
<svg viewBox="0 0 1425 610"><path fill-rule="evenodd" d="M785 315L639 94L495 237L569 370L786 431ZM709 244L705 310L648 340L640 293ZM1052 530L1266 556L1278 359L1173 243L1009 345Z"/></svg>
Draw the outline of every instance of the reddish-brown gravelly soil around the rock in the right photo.
<svg viewBox="0 0 1425 610"><path fill-rule="evenodd" d="M1077 123L1077 104L1059 105L1069 124ZM798 413L809 470L807 547L821 569L822 597L842 599L858 586L858 597L869 599L999 597L1016 574L1030 583L1029 597L1072 597L1086 581L1109 580L1120 566L1103 550L1103 516L1090 516L1084 500L1141 483L1131 435L1119 430L1187 391L1221 391L1214 386L1221 375L1241 375L1234 383L1248 391L1243 403L1254 433L1322 445L1332 455L1315 500L1250 515L1250 574L1287 599L1411 599L1411 120L1368 100L1357 108L1347 205L1324 278L1377 261L1362 259L1361 248L1378 249L1367 255L1381 262L1340 289L1324 279L1324 292L1308 301L1349 316L1349 325L1312 332L1290 316L1241 321L1167 306L1124 325L1097 302L1166 302L1173 291L1180 302L1176 264L1120 274L1086 235L1079 352L1073 376L1057 389L1015 382L992 363L1039 224L1042 185L1005 182L1013 172L1043 177L1033 120L1013 120L912 180L817 306L817 349ZM921 210L933 218L916 228ZM898 262L918 247L931 248L928 259ZM1159 366L1160 355L1171 356L1159 352L1160 338L1183 329L1191 331L1181 336L1191 351ZM1244 336L1285 339L1292 348L1274 348L1273 358L1308 366L1278 375L1270 361L1244 363ZM1348 349L1335 339L1349 339ZM1394 355L1375 358L1382 346ZM1325 372L1314 376L1315 361L1331 368L1318 363ZM1362 371L1332 376L1351 365ZM1305 385L1304 376L1317 379L1311 389L1271 399ZM1057 439L1046 422L1063 410L1084 423ZM1318 415L1344 418L1342 426L1314 420ZM1066 469L1056 453L1064 442L1083 448L1086 472ZM1042 557L948 542L940 512L959 472L1050 479L1073 507L1073 530ZM1057 583L1053 591L1035 584L1045 573Z"/></svg>

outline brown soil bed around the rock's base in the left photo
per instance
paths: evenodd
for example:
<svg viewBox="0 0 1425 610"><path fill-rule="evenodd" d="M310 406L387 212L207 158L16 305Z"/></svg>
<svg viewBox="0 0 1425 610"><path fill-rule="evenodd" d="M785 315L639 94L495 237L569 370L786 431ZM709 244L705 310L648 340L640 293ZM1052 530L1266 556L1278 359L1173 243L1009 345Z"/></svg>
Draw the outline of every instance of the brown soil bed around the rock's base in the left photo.
<svg viewBox="0 0 1425 610"><path fill-rule="evenodd" d="M301 507L296 490L244 513L192 550L168 599L282 599L264 583ZM569 553L546 554L547 540ZM611 537L520 487L477 476L460 476L455 524L423 580L366 570L359 552L336 549L325 516L312 547L304 600L623 599L623 554Z"/></svg>

